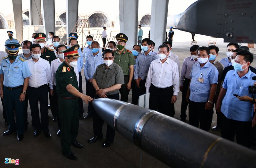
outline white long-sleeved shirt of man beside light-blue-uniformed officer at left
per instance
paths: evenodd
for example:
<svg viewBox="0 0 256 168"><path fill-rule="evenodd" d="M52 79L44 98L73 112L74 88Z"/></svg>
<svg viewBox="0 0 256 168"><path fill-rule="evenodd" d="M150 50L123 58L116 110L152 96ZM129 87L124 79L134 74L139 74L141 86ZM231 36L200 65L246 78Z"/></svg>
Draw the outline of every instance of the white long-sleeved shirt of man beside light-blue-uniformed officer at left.
<svg viewBox="0 0 256 168"><path fill-rule="evenodd" d="M28 86L36 88L48 84L51 78L51 67L47 60L41 57L37 62L32 58L27 60L28 69L31 73L29 76Z"/></svg>

